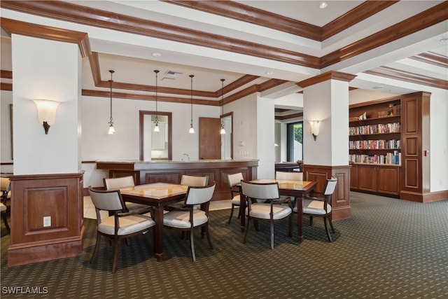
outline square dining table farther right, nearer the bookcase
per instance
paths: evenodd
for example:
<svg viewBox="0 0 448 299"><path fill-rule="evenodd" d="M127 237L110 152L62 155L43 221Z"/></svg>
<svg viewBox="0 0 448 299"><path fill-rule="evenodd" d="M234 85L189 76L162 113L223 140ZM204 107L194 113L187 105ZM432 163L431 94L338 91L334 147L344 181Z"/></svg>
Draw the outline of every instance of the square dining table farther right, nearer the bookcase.
<svg viewBox="0 0 448 299"><path fill-rule="evenodd" d="M297 205L297 239L299 243L303 241L303 197L314 191L317 181L294 181L294 180L279 180L279 179L255 179L252 183L279 183L279 194L290 197L295 197L295 204ZM242 193L241 193L242 194ZM240 221L241 232L246 228L246 198L240 196Z"/></svg>

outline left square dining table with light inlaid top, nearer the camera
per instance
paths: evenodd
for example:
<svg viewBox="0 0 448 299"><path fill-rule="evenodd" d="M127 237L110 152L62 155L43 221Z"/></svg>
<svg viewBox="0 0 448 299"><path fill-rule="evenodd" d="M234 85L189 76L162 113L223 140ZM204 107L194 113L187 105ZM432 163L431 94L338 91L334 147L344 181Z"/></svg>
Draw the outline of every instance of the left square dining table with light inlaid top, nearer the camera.
<svg viewBox="0 0 448 299"><path fill-rule="evenodd" d="M158 262L163 260L163 215L165 207L185 199L188 186L173 183L148 183L120 188L125 202L146 204L154 208L154 253Z"/></svg>

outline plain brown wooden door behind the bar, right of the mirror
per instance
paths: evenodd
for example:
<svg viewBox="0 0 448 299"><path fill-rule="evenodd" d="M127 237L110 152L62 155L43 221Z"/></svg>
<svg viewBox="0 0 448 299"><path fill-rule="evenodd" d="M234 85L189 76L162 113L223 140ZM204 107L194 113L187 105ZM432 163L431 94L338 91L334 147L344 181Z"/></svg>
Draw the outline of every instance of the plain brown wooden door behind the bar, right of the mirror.
<svg viewBox="0 0 448 299"><path fill-rule="evenodd" d="M221 159L221 119L199 118L199 158Z"/></svg>

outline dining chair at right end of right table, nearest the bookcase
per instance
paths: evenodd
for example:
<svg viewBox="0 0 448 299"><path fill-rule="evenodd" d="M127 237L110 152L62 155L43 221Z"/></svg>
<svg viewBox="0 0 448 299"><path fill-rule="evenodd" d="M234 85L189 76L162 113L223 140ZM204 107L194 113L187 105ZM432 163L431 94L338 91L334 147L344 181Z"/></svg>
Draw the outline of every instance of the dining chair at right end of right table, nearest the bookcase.
<svg viewBox="0 0 448 299"><path fill-rule="evenodd" d="M330 223L332 233L335 233L333 223L331 221L331 196L335 192L337 185L337 179L332 177L327 179L323 192L314 191L314 195L321 195L322 197L306 196L303 200L304 215L309 216L309 225L313 226L313 217L323 217L323 225L325 225L325 231L327 232L328 240L332 242L330 230L328 229L327 222ZM297 213L297 207L294 207L293 211Z"/></svg>

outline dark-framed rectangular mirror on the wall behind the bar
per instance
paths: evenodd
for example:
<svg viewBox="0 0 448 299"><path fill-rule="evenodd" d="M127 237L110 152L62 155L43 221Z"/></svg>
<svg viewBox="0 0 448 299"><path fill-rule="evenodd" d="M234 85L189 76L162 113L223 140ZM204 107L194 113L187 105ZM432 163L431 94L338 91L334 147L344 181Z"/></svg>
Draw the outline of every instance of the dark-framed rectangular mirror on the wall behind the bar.
<svg viewBox="0 0 448 299"><path fill-rule="evenodd" d="M155 111L139 111L140 160L172 160L172 113L157 112L159 132L154 132Z"/></svg>

